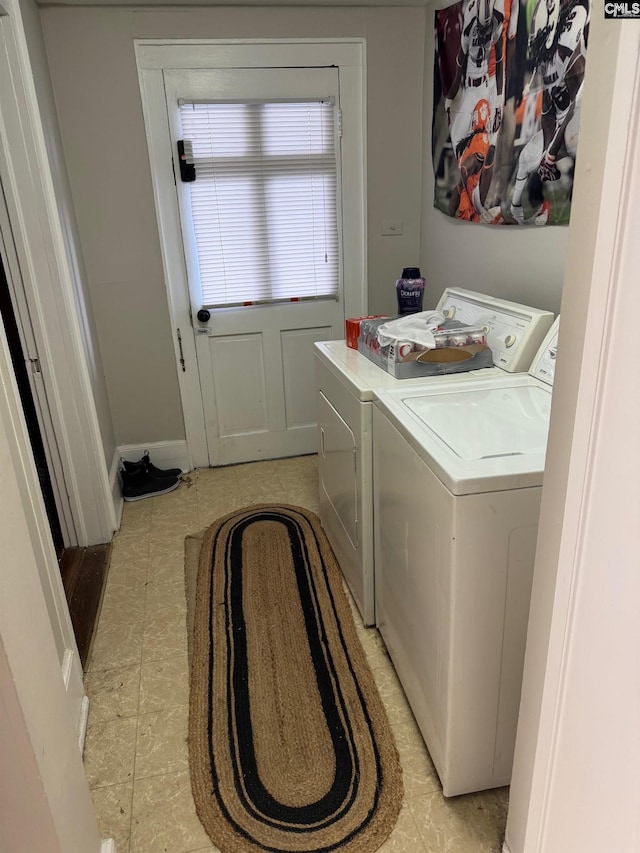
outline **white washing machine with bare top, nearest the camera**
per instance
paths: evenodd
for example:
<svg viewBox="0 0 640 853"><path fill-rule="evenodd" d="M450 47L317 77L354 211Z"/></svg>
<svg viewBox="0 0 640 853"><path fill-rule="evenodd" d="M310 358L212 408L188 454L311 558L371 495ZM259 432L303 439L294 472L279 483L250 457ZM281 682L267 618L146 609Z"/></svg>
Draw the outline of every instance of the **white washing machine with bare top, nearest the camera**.
<svg viewBox="0 0 640 853"><path fill-rule="evenodd" d="M445 796L511 779L557 325L529 374L377 393L377 624Z"/></svg>

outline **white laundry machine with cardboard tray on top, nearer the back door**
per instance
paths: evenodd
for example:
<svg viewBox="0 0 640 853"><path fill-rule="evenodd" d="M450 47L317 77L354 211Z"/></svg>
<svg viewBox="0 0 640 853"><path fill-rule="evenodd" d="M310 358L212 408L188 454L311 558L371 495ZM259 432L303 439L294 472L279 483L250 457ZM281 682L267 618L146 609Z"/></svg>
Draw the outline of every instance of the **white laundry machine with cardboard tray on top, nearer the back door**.
<svg viewBox="0 0 640 853"><path fill-rule="evenodd" d="M487 328L496 367L448 376L395 379L344 341L315 344L320 518L365 625L375 623L372 412L376 389L479 381L529 369L553 314L461 288L437 310Z"/></svg>

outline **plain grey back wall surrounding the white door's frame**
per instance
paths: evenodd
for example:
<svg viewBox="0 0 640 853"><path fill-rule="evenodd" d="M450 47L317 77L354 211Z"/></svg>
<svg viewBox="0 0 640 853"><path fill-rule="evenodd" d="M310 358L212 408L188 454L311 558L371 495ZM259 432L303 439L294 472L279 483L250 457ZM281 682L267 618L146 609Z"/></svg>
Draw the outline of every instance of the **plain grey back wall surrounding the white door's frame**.
<svg viewBox="0 0 640 853"><path fill-rule="evenodd" d="M394 310L394 282L419 255L424 9L61 7L41 18L118 444L184 437L136 37L366 38L369 308ZM382 237L384 219L404 234Z"/></svg>

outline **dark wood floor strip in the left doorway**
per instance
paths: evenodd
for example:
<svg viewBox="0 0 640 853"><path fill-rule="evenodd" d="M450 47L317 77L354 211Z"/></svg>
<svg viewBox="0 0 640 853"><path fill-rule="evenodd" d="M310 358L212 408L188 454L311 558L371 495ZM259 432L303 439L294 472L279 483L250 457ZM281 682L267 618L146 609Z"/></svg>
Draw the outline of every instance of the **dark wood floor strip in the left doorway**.
<svg viewBox="0 0 640 853"><path fill-rule="evenodd" d="M65 548L59 560L71 624L85 669L107 582L110 545Z"/></svg>

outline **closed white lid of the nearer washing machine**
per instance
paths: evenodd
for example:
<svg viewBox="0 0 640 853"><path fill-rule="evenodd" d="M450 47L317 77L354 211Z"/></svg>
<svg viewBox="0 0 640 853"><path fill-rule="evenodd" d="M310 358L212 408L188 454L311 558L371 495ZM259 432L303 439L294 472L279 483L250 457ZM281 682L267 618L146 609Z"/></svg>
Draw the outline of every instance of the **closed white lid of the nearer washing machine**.
<svg viewBox="0 0 640 853"><path fill-rule="evenodd" d="M540 386L411 397L404 405L461 459L546 450L551 394Z"/></svg>

